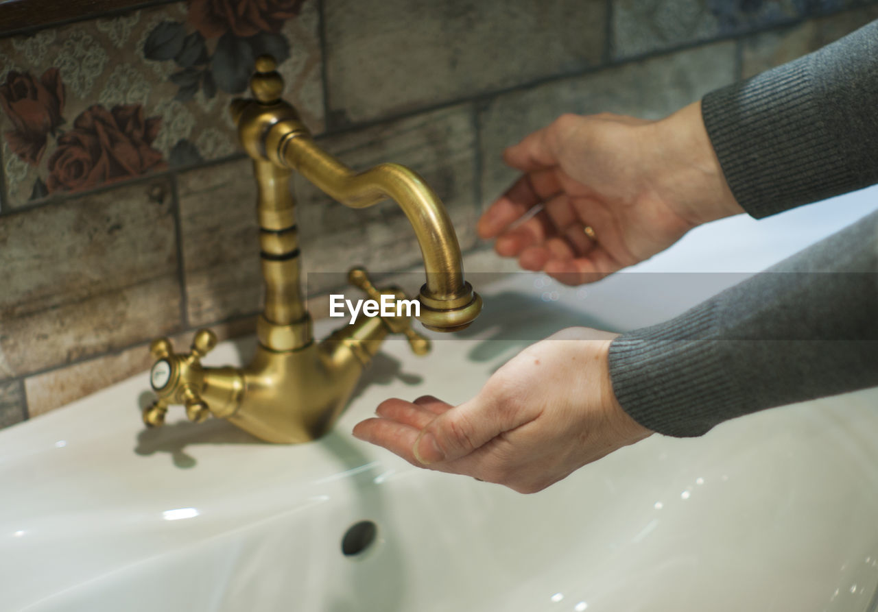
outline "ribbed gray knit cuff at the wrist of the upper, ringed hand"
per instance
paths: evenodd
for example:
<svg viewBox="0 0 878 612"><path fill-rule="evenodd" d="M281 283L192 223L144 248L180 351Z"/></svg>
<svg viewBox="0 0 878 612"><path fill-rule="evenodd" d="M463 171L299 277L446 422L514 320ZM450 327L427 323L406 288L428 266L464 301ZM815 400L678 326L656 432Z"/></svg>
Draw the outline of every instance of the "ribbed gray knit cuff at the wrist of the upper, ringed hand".
<svg viewBox="0 0 878 612"><path fill-rule="evenodd" d="M732 194L761 218L851 189L857 179L834 144L812 58L704 96L702 117Z"/></svg>

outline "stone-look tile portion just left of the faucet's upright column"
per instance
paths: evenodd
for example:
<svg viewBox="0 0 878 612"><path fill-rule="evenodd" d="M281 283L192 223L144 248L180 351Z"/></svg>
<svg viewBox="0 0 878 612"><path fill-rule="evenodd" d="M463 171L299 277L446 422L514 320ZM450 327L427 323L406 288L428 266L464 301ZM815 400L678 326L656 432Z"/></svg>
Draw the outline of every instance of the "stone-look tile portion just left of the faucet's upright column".
<svg viewBox="0 0 878 612"><path fill-rule="evenodd" d="M189 324L259 310L263 278L252 162L182 173L177 193Z"/></svg>

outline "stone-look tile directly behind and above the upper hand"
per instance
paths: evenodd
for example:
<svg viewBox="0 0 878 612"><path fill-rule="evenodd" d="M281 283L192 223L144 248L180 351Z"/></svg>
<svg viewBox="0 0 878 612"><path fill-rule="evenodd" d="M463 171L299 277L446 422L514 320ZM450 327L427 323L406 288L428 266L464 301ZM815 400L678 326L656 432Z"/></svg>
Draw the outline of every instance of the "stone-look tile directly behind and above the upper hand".
<svg viewBox="0 0 878 612"><path fill-rule="evenodd" d="M733 42L717 43L499 96L479 114L483 204L515 180L501 153L529 132L565 112L666 117L734 81L734 55Z"/></svg>

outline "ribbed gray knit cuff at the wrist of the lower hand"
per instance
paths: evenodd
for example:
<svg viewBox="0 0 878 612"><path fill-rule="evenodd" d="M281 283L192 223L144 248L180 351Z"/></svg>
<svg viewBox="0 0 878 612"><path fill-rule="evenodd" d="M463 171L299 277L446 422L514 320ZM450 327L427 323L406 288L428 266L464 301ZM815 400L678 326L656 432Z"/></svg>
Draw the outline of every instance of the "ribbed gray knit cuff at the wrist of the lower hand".
<svg viewBox="0 0 878 612"><path fill-rule="evenodd" d="M743 414L715 336L716 303L623 334L609 348L616 399L637 423L666 436L701 436Z"/></svg>

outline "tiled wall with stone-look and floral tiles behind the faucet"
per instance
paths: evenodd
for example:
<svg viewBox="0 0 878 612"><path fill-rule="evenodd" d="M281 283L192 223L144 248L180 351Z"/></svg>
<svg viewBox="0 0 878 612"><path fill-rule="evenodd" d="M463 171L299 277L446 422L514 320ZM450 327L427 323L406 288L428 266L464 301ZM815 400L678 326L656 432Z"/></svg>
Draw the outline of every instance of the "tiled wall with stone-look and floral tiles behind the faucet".
<svg viewBox="0 0 878 612"><path fill-rule="evenodd" d="M0 427L147 369L151 338L252 331L255 189L227 103L259 53L322 146L414 167L472 250L504 146L567 111L663 117L874 4L191 0L0 34ZM392 203L295 190L306 271L419 259Z"/></svg>

